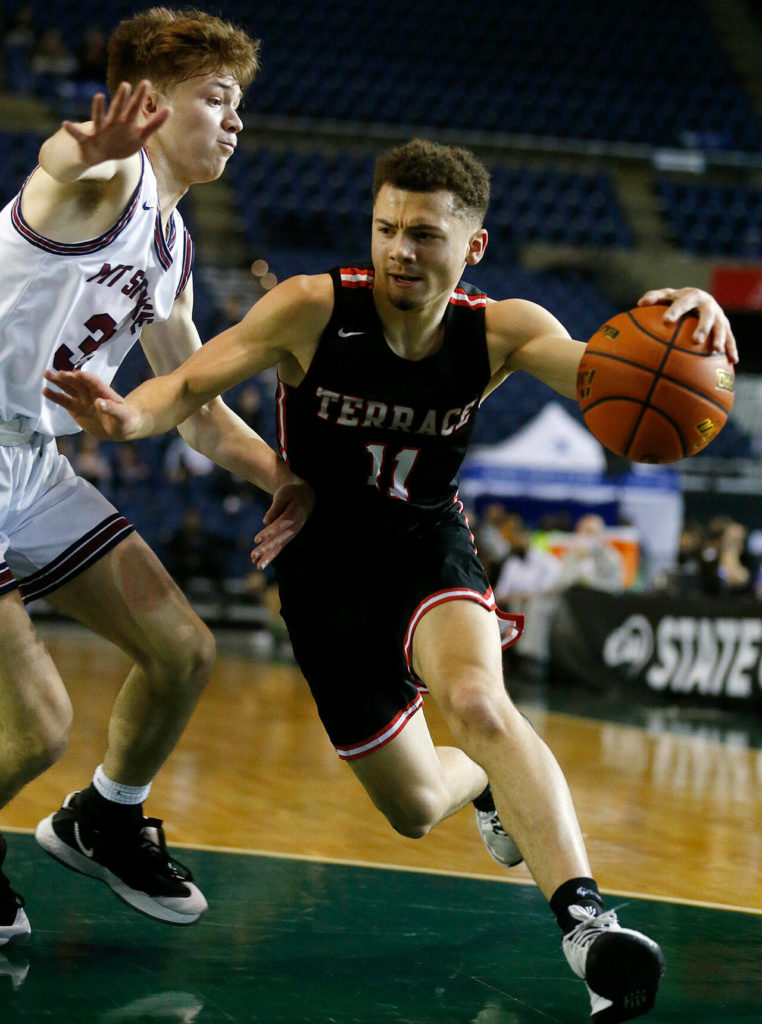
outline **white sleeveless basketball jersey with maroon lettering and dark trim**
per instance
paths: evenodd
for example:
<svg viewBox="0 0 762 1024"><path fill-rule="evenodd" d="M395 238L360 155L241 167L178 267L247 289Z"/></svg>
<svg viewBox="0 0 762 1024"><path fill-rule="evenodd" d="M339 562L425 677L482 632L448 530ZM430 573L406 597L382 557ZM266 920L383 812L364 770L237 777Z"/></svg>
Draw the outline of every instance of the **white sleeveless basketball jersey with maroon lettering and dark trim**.
<svg viewBox="0 0 762 1024"><path fill-rule="evenodd" d="M111 383L142 327L169 317L193 246L176 210L165 237L144 152L130 202L97 239L43 238L22 216L23 195L0 212L0 420L72 434L80 428L71 416L42 396L44 371L84 368Z"/></svg>

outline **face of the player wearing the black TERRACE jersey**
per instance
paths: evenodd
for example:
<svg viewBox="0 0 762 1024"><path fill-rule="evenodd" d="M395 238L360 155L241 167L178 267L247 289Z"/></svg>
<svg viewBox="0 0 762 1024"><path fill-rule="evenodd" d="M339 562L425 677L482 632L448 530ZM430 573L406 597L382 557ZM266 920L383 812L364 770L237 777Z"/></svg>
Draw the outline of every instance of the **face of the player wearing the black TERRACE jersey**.
<svg viewBox="0 0 762 1024"><path fill-rule="evenodd" d="M450 298L466 263L476 263L486 231L458 212L452 193L382 185L373 208L376 285L397 309Z"/></svg>

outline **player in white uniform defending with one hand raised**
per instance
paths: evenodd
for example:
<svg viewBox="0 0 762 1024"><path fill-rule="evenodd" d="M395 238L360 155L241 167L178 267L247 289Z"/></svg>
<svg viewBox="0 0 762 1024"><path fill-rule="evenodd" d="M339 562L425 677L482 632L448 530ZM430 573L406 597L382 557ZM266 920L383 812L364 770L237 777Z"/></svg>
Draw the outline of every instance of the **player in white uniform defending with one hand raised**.
<svg viewBox="0 0 762 1024"><path fill-rule="evenodd" d="M92 784L40 822L39 842L176 925L197 921L206 900L141 805L209 677L214 641L130 523L57 453L55 437L79 427L40 385L45 370L84 366L111 380L138 339L161 374L200 347L176 206L235 152L257 50L198 11L123 22L110 45L111 105L96 97L91 122L65 122L0 214L0 806L67 745L72 706L24 606L44 596L134 666ZM311 489L218 399L180 431L274 496L257 538L264 567L309 514ZM0 835L0 867L5 854ZM29 931L0 871L0 945Z"/></svg>

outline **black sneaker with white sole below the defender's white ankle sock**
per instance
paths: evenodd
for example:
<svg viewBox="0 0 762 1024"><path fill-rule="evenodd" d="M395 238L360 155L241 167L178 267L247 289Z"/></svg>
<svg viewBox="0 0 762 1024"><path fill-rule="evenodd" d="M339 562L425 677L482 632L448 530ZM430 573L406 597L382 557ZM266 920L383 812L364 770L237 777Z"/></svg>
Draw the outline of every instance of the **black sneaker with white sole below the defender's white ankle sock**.
<svg viewBox="0 0 762 1024"><path fill-rule="evenodd" d="M134 831L104 833L83 813L79 793L37 826L35 838L51 857L105 882L141 913L170 925L193 925L207 909L190 871L172 860L162 822L143 818Z"/></svg>

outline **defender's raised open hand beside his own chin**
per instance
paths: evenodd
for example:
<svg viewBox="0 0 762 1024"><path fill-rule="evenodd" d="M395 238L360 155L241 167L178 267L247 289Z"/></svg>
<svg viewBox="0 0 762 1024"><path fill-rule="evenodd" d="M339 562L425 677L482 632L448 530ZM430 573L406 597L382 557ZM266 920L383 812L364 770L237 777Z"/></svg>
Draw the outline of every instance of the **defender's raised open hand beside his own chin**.
<svg viewBox="0 0 762 1024"><path fill-rule="evenodd" d="M151 83L142 81L133 92L128 82L122 82L111 105L107 106L102 92L93 97L90 125L74 121L62 123L64 130L79 143L85 164L94 167L107 160L131 157L167 121L171 108L162 106L145 122L140 122L140 106L150 88Z"/></svg>

